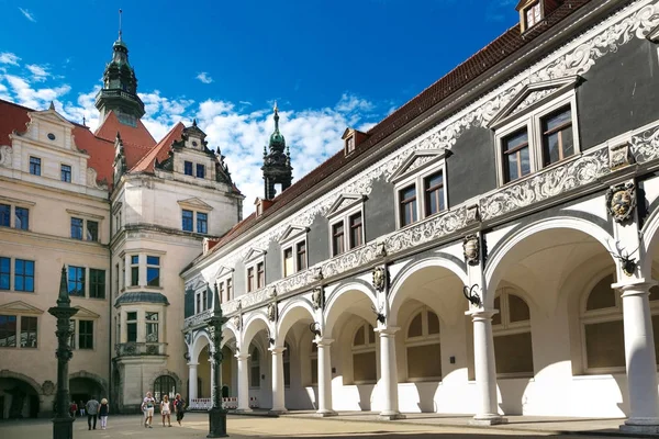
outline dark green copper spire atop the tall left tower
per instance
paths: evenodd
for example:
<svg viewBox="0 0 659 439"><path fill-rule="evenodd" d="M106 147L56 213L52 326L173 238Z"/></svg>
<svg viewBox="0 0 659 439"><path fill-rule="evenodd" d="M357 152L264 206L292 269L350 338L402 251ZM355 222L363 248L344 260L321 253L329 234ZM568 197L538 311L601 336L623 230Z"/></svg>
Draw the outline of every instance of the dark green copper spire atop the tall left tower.
<svg viewBox="0 0 659 439"><path fill-rule="evenodd" d="M103 88L96 98L101 121L114 111L122 123L135 125L144 115L144 103L137 95L137 78L129 64L129 47L122 40L121 10L119 11L119 38L112 45L112 60L105 65Z"/></svg>

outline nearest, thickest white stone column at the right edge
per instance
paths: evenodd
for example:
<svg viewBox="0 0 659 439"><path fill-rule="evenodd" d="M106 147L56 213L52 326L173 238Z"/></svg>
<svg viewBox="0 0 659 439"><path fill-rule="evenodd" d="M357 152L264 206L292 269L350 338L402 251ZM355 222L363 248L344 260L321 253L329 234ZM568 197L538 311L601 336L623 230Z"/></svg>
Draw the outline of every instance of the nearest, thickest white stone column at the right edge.
<svg viewBox="0 0 659 439"><path fill-rule="evenodd" d="M623 296L630 415L621 430L626 432L659 434L657 360L649 301L649 290L654 285L656 282L643 279L613 285L622 291Z"/></svg>

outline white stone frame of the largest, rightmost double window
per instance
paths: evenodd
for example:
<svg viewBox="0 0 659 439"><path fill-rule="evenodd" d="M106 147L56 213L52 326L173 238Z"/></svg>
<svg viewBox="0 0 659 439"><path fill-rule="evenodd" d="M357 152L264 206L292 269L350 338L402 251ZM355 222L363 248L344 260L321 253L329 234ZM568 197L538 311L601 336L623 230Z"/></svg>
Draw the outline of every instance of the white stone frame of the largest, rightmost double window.
<svg viewBox="0 0 659 439"><path fill-rule="evenodd" d="M533 91L532 91L533 92ZM574 154L570 157L566 157L562 160L554 164L544 166L543 164L543 119L551 114L552 112L560 110L563 106L570 106L572 117L572 139ZM530 105L530 110L522 111L517 116L514 114L506 117L507 121L495 128L495 145L496 145L496 181L500 187L514 184L532 177L535 172L541 169L548 169L555 166L560 166L567 160L573 159L581 155L581 145L579 142L579 116L577 113L577 90L574 87L569 87L563 92L557 92L557 95L543 103L541 105L534 108ZM499 125L499 124L496 124ZM504 157L503 157L503 139L513 134L514 132L526 126L528 133L528 159L530 161L530 172L516 180L505 181L505 172L503 169Z"/></svg>

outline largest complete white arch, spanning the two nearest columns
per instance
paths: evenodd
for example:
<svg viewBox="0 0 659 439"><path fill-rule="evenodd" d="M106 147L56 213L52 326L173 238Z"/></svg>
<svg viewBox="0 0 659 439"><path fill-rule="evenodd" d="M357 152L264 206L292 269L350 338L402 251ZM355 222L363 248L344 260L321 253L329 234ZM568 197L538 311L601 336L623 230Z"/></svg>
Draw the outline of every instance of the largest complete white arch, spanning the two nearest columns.
<svg viewBox="0 0 659 439"><path fill-rule="evenodd" d="M509 237L506 237L495 247L484 270L488 290L491 288L496 288L503 277L503 272L507 268L504 263L506 261L506 257L518 244L541 232L559 228L568 228L590 236L600 243L605 251L607 251L610 243L613 241L613 237L606 230L602 229L600 226L591 223L590 221L569 216L537 221L518 230L513 230ZM615 263L613 256L611 256L611 260ZM494 294L491 294L490 291L488 291L488 294L483 295L483 305L485 308L491 308L494 303Z"/></svg>

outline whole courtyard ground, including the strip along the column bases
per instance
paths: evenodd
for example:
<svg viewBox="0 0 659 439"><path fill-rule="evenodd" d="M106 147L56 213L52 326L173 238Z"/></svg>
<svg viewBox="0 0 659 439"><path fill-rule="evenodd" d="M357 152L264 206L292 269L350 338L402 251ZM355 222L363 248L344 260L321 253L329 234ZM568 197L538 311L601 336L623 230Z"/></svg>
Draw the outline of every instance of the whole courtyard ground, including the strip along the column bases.
<svg viewBox="0 0 659 439"><path fill-rule="evenodd" d="M516 417L506 426L476 428L467 425L465 417L412 417L402 421L376 421L364 414L340 414L336 418L315 418L299 413L281 417L235 416L227 418L227 430L235 438L603 438L619 424L616 419L533 419ZM108 429L89 430L86 418L74 423L74 437L87 438L205 438L208 415L189 413L182 426L163 427L154 418L153 429L145 429L142 417L132 415L110 416ZM587 434L587 431L592 431ZM601 432L601 436L599 432ZM0 423L2 439L46 439L52 437L52 424L47 419Z"/></svg>

